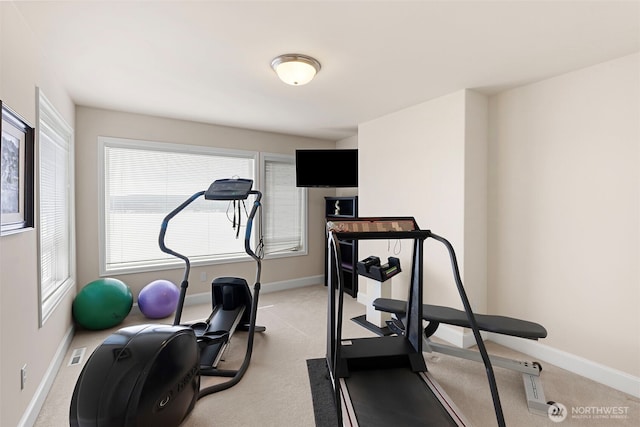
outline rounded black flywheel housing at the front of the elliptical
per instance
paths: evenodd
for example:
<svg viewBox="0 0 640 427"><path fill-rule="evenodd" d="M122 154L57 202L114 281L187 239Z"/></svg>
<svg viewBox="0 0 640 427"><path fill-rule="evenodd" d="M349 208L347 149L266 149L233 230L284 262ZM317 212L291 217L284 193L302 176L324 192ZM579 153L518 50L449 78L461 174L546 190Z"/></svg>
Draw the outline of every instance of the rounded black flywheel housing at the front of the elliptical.
<svg viewBox="0 0 640 427"><path fill-rule="evenodd" d="M138 325L110 335L76 382L72 427L178 426L200 390L200 357L193 330Z"/></svg>

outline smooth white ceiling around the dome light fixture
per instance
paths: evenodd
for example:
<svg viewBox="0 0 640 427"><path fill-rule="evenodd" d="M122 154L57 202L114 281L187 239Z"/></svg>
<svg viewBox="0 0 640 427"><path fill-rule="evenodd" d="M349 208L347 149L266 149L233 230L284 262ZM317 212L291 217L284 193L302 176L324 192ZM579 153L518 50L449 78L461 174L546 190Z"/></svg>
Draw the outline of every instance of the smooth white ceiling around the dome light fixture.
<svg viewBox="0 0 640 427"><path fill-rule="evenodd" d="M640 50L639 1L16 2L78 105L341 139ZM283 53L322 64L302 87Z"/></svg>

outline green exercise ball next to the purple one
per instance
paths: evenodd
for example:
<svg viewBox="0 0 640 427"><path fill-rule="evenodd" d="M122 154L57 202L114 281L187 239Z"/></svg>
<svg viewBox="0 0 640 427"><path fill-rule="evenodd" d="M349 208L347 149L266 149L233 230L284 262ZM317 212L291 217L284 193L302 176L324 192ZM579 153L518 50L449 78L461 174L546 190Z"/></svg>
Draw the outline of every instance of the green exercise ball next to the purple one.
<svg viewBox="0 0 640 427"><path fill-rule="evenodd" d="M133 306L131 289L118 279L98 279L88 283L73 300L73 317L87 329L116 326Z"/></svg>

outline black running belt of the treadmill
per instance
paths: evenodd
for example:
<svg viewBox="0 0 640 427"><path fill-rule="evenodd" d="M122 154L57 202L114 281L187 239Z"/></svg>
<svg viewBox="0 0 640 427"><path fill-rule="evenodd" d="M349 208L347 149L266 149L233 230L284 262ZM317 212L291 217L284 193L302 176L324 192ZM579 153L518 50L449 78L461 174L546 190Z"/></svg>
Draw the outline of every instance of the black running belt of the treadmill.
<svg viewBox="0 0 640 427"><path fill-rule="evenodd" d="M458 425L420 375L408 369L353 371L344 380L361 427Z"/></svg>

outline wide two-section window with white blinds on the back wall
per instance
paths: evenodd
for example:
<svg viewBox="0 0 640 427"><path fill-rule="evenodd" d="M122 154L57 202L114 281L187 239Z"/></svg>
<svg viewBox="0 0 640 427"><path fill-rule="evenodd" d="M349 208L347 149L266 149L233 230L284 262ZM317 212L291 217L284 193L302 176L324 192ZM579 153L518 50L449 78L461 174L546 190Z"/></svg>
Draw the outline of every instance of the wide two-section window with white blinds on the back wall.
<svg viewBox="0 0 640 427"><path fill-rule="evenodd" d="M293 156L263 154L258 185L258 153L253 151L108 137L98 143L104 177L101 275L182 265L160 251L162 220L216 179L231 177L253 179L263 193L262 218L256 218L260 227L253 232L262 231L265 255L306 254L306 190L296 188ZM245 219L251 206L241 209ZM237 231L232 202L199 198L171 219L165 243L187 255L192 265L246 260L244 232Z"/></svg>

